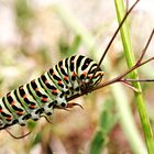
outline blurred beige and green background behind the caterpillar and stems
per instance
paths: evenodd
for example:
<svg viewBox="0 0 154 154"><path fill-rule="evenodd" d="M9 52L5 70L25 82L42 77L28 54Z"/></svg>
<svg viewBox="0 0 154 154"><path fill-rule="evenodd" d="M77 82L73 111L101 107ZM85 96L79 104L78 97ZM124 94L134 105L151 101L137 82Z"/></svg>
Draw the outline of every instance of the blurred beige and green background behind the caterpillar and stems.
<svg viewBox="0 0 154 154"><path fill-rule="evenodd" d="M134 0L128 1L131 6ZM138 58L154 28L154 1L141 0L129 16ZM58 61L82 54L99 62L118 26L112 0L0 0L0 96L36 78ZM146 58L154 56L154 40ZM154 63L140 68L154 78ZM127 70L120 35L101 65L105 80ZM142 84L154 129L153 84ZM122 102L121 102L122 101ZM0 154L133 154L146 153L133 91L119 85L75 99L70 111L55 110L45 119L0 131Z"/></svg>

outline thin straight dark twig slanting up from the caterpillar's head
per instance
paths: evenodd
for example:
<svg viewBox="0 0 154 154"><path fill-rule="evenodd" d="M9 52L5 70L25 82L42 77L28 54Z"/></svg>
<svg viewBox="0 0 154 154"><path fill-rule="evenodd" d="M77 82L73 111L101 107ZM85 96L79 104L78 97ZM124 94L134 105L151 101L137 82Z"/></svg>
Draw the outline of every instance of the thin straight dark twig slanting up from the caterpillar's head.
<svg viewBox="0 0 154 154"><path fill-rule="evenodd" d="M98 69L99 69L99 67L100 67L100 65L101 65L101 63L102 63L102 61L103 61L106 54L108 53L108 51L109 51L109 48L110 48L112 42L114 41L114 38L116 38L116 36L117 36L119 30L121 29L122 24L124 23L124 21L127 20L128 15L129 15L130 12L133 10L133 8L138 4L139 1L140 1L140 0L136 0L136 1L135 1L135 3L130 8L130 10L127 12L127 14L124 15L123 20L122 20L121 23L119 24L119 26L118 26L118 29L116 30L116 32L114 32L112 38L110 40L108 46L106 47L106 50L105 50L105 52L103 52L103 54L102 54L102 56L101 56L101 58L100 58L100 61L99 61L99 63L98 63L98 66L97 66L97 68L96 68L96 70L95 70L92 77L90 78L89 82L91 82L92 78L95 77L96 73L98 72Z"/></svg>

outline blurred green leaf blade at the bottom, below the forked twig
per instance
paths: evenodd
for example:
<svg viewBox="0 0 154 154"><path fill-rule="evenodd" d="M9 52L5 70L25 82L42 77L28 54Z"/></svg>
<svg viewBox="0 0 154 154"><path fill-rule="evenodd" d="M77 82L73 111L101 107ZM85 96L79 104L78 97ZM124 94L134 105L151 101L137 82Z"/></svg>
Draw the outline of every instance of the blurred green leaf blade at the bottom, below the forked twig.
<svg viewBox="0 0 154 154"><path fill-rule="evenodd" d="M112 99L103 102L102 111L99 117L99 124L95 138L92 139L89 154L100 154L109 142L109 133L117 123L118 116L114 112L114 103Z"/></svg>

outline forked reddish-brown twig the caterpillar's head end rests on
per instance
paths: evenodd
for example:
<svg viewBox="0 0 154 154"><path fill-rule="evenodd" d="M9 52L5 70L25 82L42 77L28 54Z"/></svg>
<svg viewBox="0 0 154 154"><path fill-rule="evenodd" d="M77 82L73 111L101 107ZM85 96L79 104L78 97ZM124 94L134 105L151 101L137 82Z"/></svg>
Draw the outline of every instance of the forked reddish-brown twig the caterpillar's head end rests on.
<svg viewBox="0 0 154 154"><path fill-rule="evenodd" d="M143 59L143 56L145 55L145 53L146 53L146 51L147 51L147 47L148 47L148 45L150 45L150 43L151 43L151 40L152 40L152 37L153 37L153 35L154 35L154 29L153 29L153 31L152 31L152 33L151 33L151 35L150 35L150 37L148 37L148 40L147 40L147 43L146 43L146 45L145 45L145 47L143 48L143 51L142 51L142 54L141 54L141 56L140 56L140 58L138 59L138 62L134 64L134 66L132 66L129 70L127 70L125 73L123 73L122 75L120 75L120 76L118 76L118 77L116 77L116 78L113 78L113 79L111 79L111 80L109 80L109 81L106 81L106 82L102 82L102 84L100 84L99 86L97 86L97 87L95 87L95 88L87 88L87 90L85 90L85 91L82 91L82 94L80 94L80 95L75 95L75 96L72 96L72 97L69 97L69 98L67 98L67 101L70 101L70 100L73 100L73 99L75 99L75 98L77 98L77 97L80 97L80 96L84 96L84 95L86 95L86 94L88 94L88 92L91 92L91 91L94 91L94 90L97 90L97 89L100 89L100 88L103 88L103 87L106 87L106 86L109 86L109 85L111 85L111 84L114 84L114 82L120 82L120 81L140 81L140 80L142 80L142 79L122 79L124 76L127 76L128 74L130 74L131 72L133 72L134 69L136 69L136 68L139 68L139 67L141 67L141 66L143 66L144 64L146 64L146 63L148 63L148 62L151 62L151 61L153 61L154 59L154 57L151 57L151 58L148 58L148 59L146 59L146 61L144 61L144 62L142 62L141 63L141 61ZM148 80L148 79L146 79L146 80ZM151 81L153 81L154 79L150 79ZM132 87L133 88L133 87Z"/></svg>

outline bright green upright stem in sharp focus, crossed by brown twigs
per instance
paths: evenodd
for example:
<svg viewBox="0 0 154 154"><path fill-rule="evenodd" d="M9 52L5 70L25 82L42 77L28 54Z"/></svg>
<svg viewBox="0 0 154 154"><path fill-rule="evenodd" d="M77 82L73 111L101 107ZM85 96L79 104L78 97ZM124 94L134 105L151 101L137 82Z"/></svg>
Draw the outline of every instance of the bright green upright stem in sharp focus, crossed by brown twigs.
<svg viewBox="0 0 154 154"><path fill-rule="evenodd" d="M116 2L118 20L120 23L121 20L123 19L123 15L125 14L123 0L114 0L114 2ZM131 38L130 38L130 33L129 33L129 26L128 26L127 22L122 25L120 32L121 32L121 38L122 38L122 43L123 43L123 50L124 50L128 67L131 68L135 64L135 58L134 58L134 54L133 54L132 43L131 43ZM130 77L133 79L138 79L139 78L138 72L133 70L130 74ZM139 91L142 91L140 82L132 82L132 85L136 89L139 89ZM135 100L136 100L136 107L139 110L143 132L144 132L144 138L146 141L147 151L150 154L152 154L154 152L153 133L152 133L150 120L147 117L147 110L146 110L146 106L143 100L142 92L140 92L140 94L135 92Z"/></svg>

